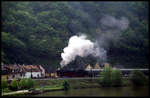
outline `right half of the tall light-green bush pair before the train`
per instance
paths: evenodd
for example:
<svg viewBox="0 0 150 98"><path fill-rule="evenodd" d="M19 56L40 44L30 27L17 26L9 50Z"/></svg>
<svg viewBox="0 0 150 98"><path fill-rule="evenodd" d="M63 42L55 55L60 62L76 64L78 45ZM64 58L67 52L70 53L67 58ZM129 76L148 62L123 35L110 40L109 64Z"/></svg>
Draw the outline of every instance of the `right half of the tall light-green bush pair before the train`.
<svg viewBox="0 0 150 98"><path fill-rule="evenodd" d="M122 72L119 69L113 69L111 73L112 86L121 86L122 80Z"/></svg>

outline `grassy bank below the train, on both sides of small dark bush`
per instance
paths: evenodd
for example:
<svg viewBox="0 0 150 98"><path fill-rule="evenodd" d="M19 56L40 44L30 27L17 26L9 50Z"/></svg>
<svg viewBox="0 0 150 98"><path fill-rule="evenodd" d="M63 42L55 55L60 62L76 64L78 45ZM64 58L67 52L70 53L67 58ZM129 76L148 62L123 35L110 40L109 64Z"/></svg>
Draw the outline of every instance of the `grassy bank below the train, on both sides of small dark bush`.
<svg viewBox="0 0 150 98"><path fill-rule="evenodd" d="M62 87L62 83L65 79L61 80L36 80L36 88L43 87ZM71 89L77 88L90 88L90 87L100 87L98 79L68 79Z"/></svg>

